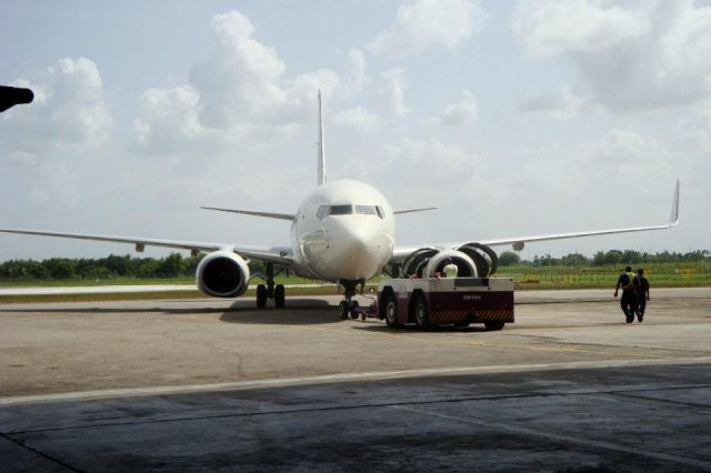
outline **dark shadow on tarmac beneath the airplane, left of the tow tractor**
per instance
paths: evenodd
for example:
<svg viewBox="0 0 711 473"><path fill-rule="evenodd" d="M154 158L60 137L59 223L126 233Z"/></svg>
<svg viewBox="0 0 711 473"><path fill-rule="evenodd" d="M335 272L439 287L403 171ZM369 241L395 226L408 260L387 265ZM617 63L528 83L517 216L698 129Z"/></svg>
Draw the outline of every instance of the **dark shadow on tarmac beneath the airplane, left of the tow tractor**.
<svg viewBox="0 0 711 473"><path fill-rule="evenodd" d="M340 322L338 309L322 299L287 300L284 309L267 306L256 309L252 301L244 308L241 301L222 310L220 320L228 323L269 324L269 325L316 325Z"/></svg>

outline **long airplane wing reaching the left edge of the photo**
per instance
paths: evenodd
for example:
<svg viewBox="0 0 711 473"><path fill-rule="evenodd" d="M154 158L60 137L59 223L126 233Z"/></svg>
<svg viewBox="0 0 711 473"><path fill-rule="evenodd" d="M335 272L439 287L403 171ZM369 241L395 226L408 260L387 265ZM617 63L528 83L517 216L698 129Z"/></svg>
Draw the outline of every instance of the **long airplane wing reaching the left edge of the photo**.
<svg viewBox="0 0 711 473"><path fill-rule="evenodd" d="M63 232L48 232L38 230L22 230L22 229L0 229L2 233L19 233L27 235L39 236L54 236L66 238L74 240L91 240L91 241L108 241L113 243L130 243L136 245L136 251L143 251L146 246L163 246L174 248L180 250L190 250L193 253L198 251L233 251L241 256L254 260L262 260L270 263L277 263L283 266L291 266L293 264L291 248L287 246L244 246L230 243L210 243L210 242L196 242L196 241L179 241L179 240L160 240L150 238L137 238L137 236L114 236L114 235L96 235L86 233L63 233Z"/></svg>

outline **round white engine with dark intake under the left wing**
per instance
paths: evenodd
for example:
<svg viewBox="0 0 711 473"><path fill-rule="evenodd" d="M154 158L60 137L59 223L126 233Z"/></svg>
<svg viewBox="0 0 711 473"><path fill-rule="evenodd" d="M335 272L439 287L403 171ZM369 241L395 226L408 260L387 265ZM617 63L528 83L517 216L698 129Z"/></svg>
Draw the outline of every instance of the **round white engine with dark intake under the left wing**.
<svg viewBox="0 0 711 473"><path fill-rule="evenodd" d="M249 285L249 266L240 255L214 251L206 255L196 271L198 289L216 298L237 298Z"/></svg>

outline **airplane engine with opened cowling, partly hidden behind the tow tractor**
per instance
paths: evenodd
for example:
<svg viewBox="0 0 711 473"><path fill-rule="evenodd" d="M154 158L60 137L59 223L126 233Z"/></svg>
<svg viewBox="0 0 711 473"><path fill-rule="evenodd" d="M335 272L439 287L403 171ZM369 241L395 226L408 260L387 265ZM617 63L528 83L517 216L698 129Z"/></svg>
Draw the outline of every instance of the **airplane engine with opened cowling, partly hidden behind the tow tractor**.
<svg viewBox="0 0 711 473"><path fill-rule="evenodd" d="M433 276L441 273L451 260L457 264L460 278L489 278L497 272L499 258L489 246L480 243L467 243L455 250L440 251L434 248L421 248L413 251L402 263L402 274L410 278Z"/></svg>

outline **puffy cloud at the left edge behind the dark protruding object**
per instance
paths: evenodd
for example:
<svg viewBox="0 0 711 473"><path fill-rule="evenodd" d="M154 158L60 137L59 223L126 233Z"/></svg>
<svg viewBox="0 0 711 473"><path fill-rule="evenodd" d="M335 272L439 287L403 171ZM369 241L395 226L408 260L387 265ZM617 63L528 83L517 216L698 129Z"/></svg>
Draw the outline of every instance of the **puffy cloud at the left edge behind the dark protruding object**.
<svg viewBox="0 0 711 473"><path fill-rule="evenodd" d="M63 58L12 84L31 88L34 101L0 117L0 143L9 159L28 162L57 150L96 150L109 139L112 120L93 61Z"/></svg>

